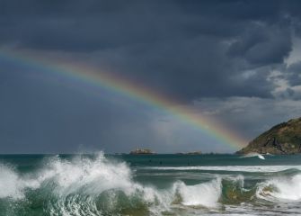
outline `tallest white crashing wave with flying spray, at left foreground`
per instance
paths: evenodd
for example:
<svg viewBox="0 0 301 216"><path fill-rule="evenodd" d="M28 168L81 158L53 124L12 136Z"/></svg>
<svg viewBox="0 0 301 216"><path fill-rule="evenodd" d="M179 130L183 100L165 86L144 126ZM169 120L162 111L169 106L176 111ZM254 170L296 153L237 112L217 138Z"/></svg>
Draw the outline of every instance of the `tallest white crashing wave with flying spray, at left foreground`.
<svg viewBox="0 0 301 216"><path fill-rule="evenodd" d="M0 171L0 198L15 200L16 207L22 206L18 212L37 196L42 200L38 207L50 215L150 213L167 210L173 199L169 193L134 182L126 163L112 162L102 153L72 160L51 157L40 171L27 175L4 165Z"/></svg>

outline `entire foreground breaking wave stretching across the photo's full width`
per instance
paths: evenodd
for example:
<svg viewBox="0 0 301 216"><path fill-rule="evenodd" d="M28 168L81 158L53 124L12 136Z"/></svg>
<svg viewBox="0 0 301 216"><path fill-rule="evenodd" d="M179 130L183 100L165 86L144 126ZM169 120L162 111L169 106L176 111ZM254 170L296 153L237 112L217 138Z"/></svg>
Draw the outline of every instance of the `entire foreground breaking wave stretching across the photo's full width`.
<svg viewBox="0 0 301 216"><path fill-rule="evenodd" d="M197 168L205 167L212 169L212 166ZM230 169L230 166L224 166L223 170L225 168ZM252 166L252 169L261 170L259 166ZM270 166L274 172L285 169L286 166ZM27 174L20 174L13 166L0 165L0 173L0 209L4 215L162 215L186 207L213 210L225 204L252 203L257 199L301 200L300 174L247 187L243 175L217 175L199 184L175 180L169 187L158 189L138 183L125 162L109 160L102 153L93 158L79 156L72 160L51 157L44 161L40 170Z"/></svg>

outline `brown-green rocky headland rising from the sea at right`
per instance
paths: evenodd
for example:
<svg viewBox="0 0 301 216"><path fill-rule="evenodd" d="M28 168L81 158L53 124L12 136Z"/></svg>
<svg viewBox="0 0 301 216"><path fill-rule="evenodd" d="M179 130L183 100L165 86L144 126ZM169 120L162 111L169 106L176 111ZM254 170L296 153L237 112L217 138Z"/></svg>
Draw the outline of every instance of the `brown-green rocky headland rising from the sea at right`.
<svg viewBox="0 0 301 216"><path fill-rule="evenodd" d="M247 154L250 152L274 155L301 153L301 118L272 127L236 153Z"/></svg>

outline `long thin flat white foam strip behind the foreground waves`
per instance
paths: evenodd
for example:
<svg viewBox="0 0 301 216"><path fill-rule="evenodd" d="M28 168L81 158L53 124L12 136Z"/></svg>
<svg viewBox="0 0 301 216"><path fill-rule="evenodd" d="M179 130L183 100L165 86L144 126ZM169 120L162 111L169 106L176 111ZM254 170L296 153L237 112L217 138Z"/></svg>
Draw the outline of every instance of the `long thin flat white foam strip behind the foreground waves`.
<svg viewBox="0 0 301 216"><path fill-rule="evenodd" d="M229 171L229 172L258 172L258 173L272 173L280 172L288 169L299 169L301 166L146 166L140 169L153 170L204 170L204 171Z"/></svg>

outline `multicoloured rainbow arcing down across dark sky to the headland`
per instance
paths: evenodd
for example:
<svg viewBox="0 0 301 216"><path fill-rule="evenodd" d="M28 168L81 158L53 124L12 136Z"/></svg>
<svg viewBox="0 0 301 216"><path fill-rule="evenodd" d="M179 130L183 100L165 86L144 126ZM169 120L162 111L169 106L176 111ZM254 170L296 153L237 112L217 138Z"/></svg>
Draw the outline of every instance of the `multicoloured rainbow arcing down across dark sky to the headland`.
<svg viewBox="0 0 301 216"><path fill-rule="evenodd" d="M131 100L173 114L173 116L188 123L191 127L197 128L208 134L208 136L217 139L222 145L237 149L243 148L246 144L244 139L237 136L235 132L227 130L220 122L208 119L198 112L193 112L188 106L181 106L164 95L146 88L146 86L137 85L124 77L113 76L111 73L97 68L77 63L66 63L58 59L49 60L41 58L41 56L30 51L0 50L0 58L10 60L13 64L34 67L39 71L52 73L58 77L75 79L89 85L100 86L115 94L121 94Z"/></svg>

